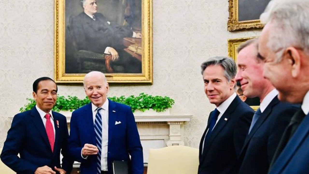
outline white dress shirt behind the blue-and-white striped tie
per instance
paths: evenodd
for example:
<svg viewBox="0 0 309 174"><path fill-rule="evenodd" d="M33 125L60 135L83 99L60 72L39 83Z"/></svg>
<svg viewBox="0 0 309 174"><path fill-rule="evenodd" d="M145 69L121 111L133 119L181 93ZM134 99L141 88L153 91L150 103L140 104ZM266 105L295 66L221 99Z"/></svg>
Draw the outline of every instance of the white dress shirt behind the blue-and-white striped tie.
<svg viewBox="0 0 309 174"><path fill-rule="evenodd" d="M107 148L108 148L108 99L102 105L102 109L99 111L102 117L102 151L101 151L101 170L107 171ZM93 124L95 124L95 115L97 113L97 108L93 103L91 103Z"/></svg>

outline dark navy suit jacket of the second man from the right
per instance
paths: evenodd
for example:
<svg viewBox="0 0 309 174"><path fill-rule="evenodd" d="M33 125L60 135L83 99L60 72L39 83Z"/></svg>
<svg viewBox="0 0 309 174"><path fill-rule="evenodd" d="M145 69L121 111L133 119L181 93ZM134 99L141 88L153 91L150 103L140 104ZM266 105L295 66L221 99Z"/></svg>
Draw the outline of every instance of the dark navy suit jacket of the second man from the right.
<svg viewBox="0 0 309 174"><path fill-rule="evenodd" d="M285 128L299 105L277 98L266 107L247 136L239 158L239 173L267 173Z"/></svg>

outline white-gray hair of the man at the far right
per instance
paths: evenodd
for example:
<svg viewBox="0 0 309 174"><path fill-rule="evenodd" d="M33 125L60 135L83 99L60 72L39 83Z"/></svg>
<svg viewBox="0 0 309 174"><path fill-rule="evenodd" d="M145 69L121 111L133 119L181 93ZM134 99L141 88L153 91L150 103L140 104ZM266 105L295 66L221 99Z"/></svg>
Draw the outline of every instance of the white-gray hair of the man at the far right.
<svg viewBox="0 0 309 174"><path fill-rule="evenodd" d="M272 0L260 20L272 23L267 46L281 61L286 47L302 49L309 55L309 0Z"/></svg>

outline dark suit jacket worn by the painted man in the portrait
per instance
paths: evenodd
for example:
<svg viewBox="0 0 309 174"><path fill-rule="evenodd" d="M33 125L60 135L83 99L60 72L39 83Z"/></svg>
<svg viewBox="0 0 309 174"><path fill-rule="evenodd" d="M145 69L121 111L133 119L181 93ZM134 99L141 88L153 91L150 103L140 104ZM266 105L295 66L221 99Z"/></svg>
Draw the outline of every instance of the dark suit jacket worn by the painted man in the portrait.
<svg viewBox="0 0 309 174"><path fill-rule="evenodd" d="M101 13L95 13L95 20L82 12L72 19L71 25L77 50L87 50L103 54L106 47L118 52L123 46L124 37L132 37L133 31L125 26L108 24Z"/></svg>

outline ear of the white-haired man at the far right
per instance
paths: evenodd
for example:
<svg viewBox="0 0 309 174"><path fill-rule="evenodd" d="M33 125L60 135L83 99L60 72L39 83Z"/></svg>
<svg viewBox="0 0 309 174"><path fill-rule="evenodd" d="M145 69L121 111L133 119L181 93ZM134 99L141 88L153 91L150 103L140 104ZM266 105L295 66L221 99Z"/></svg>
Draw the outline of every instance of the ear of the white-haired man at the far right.
<svg viewBox="0 0 309 174"><path fill-rule="evenodd" d="M297 77L300 73L301 55L294 47L286 49L288 64L291 67L292 77Z"/></svg>

